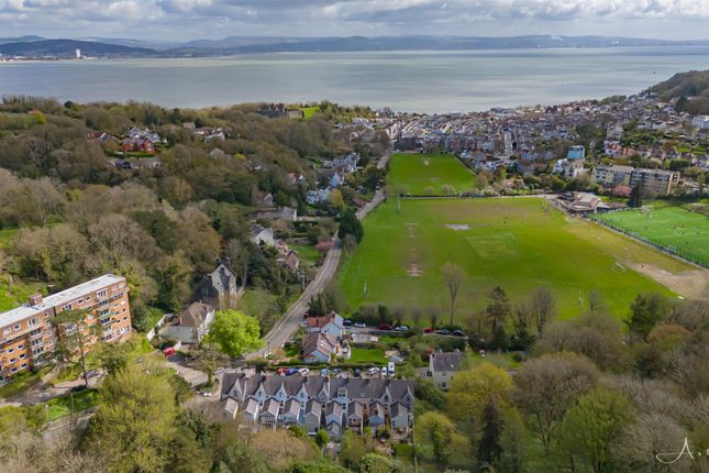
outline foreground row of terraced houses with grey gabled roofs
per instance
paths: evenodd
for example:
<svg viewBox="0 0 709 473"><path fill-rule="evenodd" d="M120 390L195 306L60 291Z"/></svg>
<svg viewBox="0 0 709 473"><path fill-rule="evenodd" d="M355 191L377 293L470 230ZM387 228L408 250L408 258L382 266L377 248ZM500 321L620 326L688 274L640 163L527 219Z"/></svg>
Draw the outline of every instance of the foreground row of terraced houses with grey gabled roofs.
<svg viewBox="0 0 709 473"><path fill-rule="evenodd" d="M374 435L388 426L392 439L408 441L413 427L413 382L406 380L228 373L221 400L229 417L255 428L298 425L340 438L345 429Z"/></svg>

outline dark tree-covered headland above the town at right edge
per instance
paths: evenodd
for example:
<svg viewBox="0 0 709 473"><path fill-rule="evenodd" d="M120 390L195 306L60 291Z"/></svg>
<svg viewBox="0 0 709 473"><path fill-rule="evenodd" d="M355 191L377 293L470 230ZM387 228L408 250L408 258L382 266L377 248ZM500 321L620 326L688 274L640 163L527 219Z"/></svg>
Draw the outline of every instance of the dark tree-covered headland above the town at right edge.
<svg viewBox="0 0 709 473"><path fill-rule="evenodd" d="M649 90L665 101L679 99L677 109L680 111L709 114L709 70L675 74Z"/></svg>

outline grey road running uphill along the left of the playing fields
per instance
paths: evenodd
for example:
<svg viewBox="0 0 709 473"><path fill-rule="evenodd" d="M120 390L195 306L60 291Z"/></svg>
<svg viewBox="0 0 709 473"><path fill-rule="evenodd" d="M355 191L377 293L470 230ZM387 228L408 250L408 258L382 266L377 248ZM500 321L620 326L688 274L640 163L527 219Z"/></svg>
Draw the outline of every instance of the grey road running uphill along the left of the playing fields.
<svg viewBox="0 0 709 473"><path fill-rule="evenodd" d="M387 166L389 161L389 154L385 155L377 163L377 167L384 169ZM357 211L357 218L359 220L364 219L367 213L374 210L383 200L385 199L384 189L377 190L374 198L370 202L367 202L362 209ZM337 265L340 264L340 257L342 256L342 242L337 237L332 238L333 246L332 250L328 252L325 260L318 270L315 277L310 282L306 290L300 295L298 300L293 302L292 306L286 311L286 314L276 322L274 328L264 336L262 341L264 345L261 350L256 350L244 355L245 360L254 360L258 358L268 356L274 350L283 346L288 342L293 333L300 327L300 321L308 311L310 306L310 300L313 296L322 292L330 280L335 275L337 271Z"/></svg>

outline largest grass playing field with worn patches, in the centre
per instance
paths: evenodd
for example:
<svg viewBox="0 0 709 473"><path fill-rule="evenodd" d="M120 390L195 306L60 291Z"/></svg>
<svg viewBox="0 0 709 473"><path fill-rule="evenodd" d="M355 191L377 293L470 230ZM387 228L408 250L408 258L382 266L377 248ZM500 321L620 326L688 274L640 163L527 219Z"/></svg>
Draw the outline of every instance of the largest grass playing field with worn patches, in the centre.
<svg viewBox="0 0 709 473"><path fill-rule="evenodd" d="M458 321L483 309L498 285L512 299L547 286L565 318L584 310L579 300L598 290L610 311L623 318L639 293L672 294L629 265L642 263L671 274L693 270L600 226L550 210L541 198L401 204L398 212L389 199L365 219L364 240L343 263L339 284L353 309L380 301L437 307L446 322L450 297L441 266L455 262L467 274L456 300Z"/></svg>

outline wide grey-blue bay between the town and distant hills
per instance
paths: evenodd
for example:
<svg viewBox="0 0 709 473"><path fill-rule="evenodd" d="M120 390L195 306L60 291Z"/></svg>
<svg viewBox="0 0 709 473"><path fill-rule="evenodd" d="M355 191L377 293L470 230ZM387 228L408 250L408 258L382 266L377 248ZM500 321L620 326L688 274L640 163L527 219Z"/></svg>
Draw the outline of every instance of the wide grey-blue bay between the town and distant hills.
<svg viewBox="0 0 709 473"><path fill-rule="evenodd" d="M201 108L331 100L412 112L629 95L709 68L709 46L283 53L0 63L0 95Z"/></svg>

